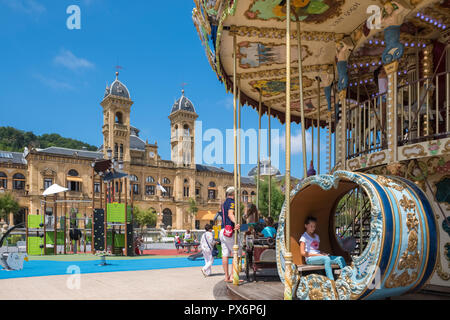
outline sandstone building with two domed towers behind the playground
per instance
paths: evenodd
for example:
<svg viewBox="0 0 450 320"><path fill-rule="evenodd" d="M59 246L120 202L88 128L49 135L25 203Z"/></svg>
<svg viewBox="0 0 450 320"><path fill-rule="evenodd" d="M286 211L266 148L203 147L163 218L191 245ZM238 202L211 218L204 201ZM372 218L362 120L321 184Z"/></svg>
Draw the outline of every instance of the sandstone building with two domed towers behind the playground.
<svg viewBox="0 0 450 320"><path fill-rule="evenodd" d="M140 209L153 208L158 213L158 227L200 229L213 220L225 200L226 188L234 183L233 173L196 164L194 124L198 114L193 103L183 90L170 110L170 160L161 159L157 142L144 141L139 129L131 125L133 103L130 91L116 73L100 102L103 145L98 151L60 147L26 148L24 153L0 151L0 192L11 192L22 208L19 215L9 217L9 224L23 221L26 212L42 210L42 193L54 183L69 189L68 199L94 197L98 207L101 180L93 176L91 164L107 158L108 149L129 175L128 198L132 196L133 205ZM256 200L253 178L243 177L241 186L242 202ZM196 201L196 214L190 213L190 198ZM47 214L52 215L52 210L47 208ZM86 202L79 210L90 216L92 204Z"/></svg>

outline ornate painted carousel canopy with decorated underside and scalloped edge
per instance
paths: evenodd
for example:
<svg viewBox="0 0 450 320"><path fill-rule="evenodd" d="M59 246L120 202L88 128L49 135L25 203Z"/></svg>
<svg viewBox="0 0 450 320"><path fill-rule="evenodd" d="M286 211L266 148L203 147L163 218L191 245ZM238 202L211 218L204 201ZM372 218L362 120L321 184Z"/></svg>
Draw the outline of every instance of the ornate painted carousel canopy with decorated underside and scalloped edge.
<svg viewBox="0 0 450 320"><path fill-rule="evenodd" d="M270 106L271 114L284 122L286 0L194 2L193 21L219 80L232 90L236 37L241 104L257 110L261 91L263 112ZM326 88L337 82L337 61L344 57L348 63L347 99L356 100L357 87L360 97L368 99L377 93L375 70L383 64L384 29L401 25L400 42L405 47L398 69L401 81L408 70L408 57L445 36L450 27L449 0L291 0L291 8L291 119L300 122L298 19L306 127L317 118L319 94L321 125L326 125L328 110L334 113L337 92L328 93L333 101L329 103Z"/></svg>

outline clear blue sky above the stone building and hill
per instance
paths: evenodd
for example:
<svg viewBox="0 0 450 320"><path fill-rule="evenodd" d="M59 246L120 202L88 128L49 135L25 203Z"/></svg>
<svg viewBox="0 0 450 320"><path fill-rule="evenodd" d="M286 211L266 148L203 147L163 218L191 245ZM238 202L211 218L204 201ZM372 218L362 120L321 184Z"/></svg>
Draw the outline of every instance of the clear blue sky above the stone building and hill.
<svg viewBox="0 0 450 320"><path fill-rule="evenodd" d="M81 30L66 27L66 9L73 4L81 9ZM120 65L119 79L134 101L131 124L142 139L158 142L163 159L170 159L168 115L183 83L203 132L216 128L225 136L233 128L232 96L209 66L191 19L193 7L190 0L0 0L0 126L101 145L100 102ZM242 119L244 129L257 129L252 108L243 108ZM267 117L262 123L267 127ZM278 120L272 128L283 137ZM293 124L292 134L291 172L301 177L299 125ZM324 151L323 139L322 146ZM284 172L283 144L279 150ZM243 165L243 174L253 166Z"/></svg>

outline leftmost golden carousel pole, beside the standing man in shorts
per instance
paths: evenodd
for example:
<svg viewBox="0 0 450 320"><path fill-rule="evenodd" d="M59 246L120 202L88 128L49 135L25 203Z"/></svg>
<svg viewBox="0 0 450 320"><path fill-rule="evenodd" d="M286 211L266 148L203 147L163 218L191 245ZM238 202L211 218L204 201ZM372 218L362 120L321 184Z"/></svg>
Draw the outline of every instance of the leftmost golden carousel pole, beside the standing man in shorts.
<svg viewBox="0 0 450 320"><path fill-rule="evenodd" d="M236 35L233 35L233 132L234 132L234 200L235 200L235 207L236 202L239 201L238 193L237 193L237 184L238 184L238 176L237 176L237 92L236 92L236 86L237 86L237 66L236 66ZM235 214L235 217L237 216L237 212ZM233 246L233 285L239 285L239 272L238 272L238 236L237 231L234 232L234 246Z"/></svg>

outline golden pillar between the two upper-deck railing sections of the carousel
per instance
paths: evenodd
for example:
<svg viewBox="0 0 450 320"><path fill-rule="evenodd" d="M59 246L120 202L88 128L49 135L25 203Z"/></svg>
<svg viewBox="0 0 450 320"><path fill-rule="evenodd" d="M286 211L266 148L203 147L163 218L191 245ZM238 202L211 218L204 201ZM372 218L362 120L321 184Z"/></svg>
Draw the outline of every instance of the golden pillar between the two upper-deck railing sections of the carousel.
<svg viewBox="0 0 450 320"><path fill-rule="evenodd" d="M387 130L388 130L388 161L397 162L397 69L398 61L384 66L388 77L387 95ZM420 99L420 98L419 98Z"/></svg>

